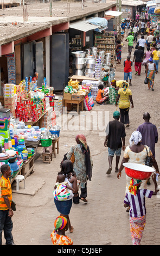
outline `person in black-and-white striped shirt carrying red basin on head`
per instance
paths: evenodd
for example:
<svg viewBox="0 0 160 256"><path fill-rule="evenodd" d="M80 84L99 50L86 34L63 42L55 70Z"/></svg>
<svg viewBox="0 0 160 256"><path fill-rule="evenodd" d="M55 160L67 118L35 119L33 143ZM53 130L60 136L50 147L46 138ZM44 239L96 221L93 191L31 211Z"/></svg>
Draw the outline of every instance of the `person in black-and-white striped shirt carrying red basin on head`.
<svg viewBox="0 0 160 256"><path fill-rule="evenodd" d="M130 232L133 245L140 245L143 230L146 223L145 197L151 198L156 195L157 190L156 175L152 175L155 184L155 192L146 189L139 189L140 181L131 179L129 192L126 193L124 206L130 206Z"/></svg>

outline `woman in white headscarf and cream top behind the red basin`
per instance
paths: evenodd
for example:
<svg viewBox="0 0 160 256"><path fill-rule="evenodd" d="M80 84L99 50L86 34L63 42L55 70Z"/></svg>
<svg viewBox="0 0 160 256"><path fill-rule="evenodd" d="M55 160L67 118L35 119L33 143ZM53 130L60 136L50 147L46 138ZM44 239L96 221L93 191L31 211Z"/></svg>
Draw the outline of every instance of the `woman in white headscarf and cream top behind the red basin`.
<svg viewBox="0 0 160 256"><path fill-rule="evenodd" d="M130 145L126 147L124 152L123 160L121 161L119 172L117 174L117 178L121 177L121 171L124 166L123 163L140 163L145 164L145 160L147 156L151 156L153 167L156 169L156 173L159 173L158 165L155 160L155 157L152 155L151 150L148 146L142 145L140 142L142 141L142 134L139 131L135 131L132 133L131 138L129 140ZM126 192L129 191L131 178L126 175ZM141 188L146 188L146 180L142 180Z"/></svg>

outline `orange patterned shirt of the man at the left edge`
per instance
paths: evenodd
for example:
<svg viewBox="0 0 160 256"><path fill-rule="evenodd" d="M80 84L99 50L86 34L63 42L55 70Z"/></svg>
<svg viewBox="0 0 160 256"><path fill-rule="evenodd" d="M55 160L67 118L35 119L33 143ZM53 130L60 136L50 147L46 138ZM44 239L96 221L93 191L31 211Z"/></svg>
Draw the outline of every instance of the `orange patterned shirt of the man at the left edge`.
<svg viewBox="0 0 160 256"><path fill-rule="evenodd" d="M11 185L10 185L10 180L5 179L4 176L2 175L0 179L0 210L8 210L8 206L4 202L4 196L8 196L9 203L11 205L11 200L12 200L12 190L11 190Z"/></svg>

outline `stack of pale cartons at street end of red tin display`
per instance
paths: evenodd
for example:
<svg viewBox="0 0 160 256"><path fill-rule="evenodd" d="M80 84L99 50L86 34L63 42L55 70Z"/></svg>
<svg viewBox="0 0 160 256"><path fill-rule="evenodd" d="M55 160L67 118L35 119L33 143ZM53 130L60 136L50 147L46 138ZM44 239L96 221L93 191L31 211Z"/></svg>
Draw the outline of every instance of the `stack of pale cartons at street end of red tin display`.
<svg viewBox="0 0 160 256"><path fill-rule="evenodd" d="M46 113L42 117L42 127L49 129L49 126L54 126L55 118L55 110L53 111L53 107L48 107Z"/></svg>

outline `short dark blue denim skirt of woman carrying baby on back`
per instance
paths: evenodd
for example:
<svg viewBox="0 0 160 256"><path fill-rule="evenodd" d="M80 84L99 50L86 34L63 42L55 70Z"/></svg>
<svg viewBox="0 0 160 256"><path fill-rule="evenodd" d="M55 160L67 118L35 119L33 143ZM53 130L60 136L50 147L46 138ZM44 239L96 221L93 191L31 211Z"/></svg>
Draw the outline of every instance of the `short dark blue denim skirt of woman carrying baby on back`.
<svg viewBox="0 0 160 256"><path fill-rule="evenodd" d="M65 200L65 201L58 201L54 199L54 203L57 211L59 211L60 214L68 215L70 213L70 210L72 207L72 199Z"/></svg>

